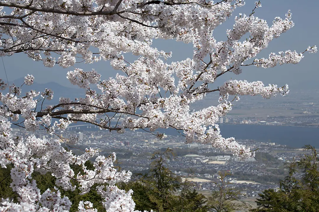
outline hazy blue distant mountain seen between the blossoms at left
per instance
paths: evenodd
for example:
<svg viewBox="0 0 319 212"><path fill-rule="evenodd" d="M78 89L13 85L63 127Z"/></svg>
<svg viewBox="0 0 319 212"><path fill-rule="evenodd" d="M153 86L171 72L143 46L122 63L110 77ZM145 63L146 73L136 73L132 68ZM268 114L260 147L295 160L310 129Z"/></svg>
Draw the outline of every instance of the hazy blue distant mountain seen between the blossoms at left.
<svg viewBox="0 0 319 212"><path fill-rule="evenodd" d="M24 82L24 78L19 78L19 79L16 79L13 81L13 83L16 86L22 85L23 82ZM10 83L12 83L12 82L10 82ZM74 98L79 98L79 97L85 96L84 89L77 88L76 86L74 86L73 88L65 87L65 86L60 85L56 82L48 82L48 83L44 83L44 84L34 82L33 85L30 85L30 86L23 85L22 92L26 93L30 90L35 90L35 91L41 92L41 91L44 91L46 88L49 88L54 92L53 99L50 101L46 101L46 104L49 104L49 105L58 103L60 97L70 98L73 100Z"/></svg>

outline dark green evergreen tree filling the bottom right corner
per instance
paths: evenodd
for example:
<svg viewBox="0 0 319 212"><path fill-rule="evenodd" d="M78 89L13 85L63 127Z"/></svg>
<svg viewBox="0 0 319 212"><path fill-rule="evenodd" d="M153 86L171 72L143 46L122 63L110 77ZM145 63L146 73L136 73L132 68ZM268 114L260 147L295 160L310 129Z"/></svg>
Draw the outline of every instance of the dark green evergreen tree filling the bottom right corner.
<svg viewBox="0 0 319 212"><path fill-rule="evenodd" d="M279 182L279 191L264 190L256 203L258 211L317 212L319 211L319 166L314 147L304 146L304 154L286 163L288 174ZM297 160L298 159L298 160ZM296 176L301 175L297 178Z"/></svg>

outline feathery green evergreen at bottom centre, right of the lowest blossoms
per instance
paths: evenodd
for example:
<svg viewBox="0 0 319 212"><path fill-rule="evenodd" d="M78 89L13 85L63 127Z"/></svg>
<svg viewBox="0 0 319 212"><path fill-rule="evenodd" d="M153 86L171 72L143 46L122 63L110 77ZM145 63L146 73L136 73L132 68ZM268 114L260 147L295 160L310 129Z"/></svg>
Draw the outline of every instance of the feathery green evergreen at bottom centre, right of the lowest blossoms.
<svg viewBox="0 0 319 212"><path fill-rule="evenodd" d="M162 153L155 152L149 171L144 175L136 174L135 181L122 183L120 188L134 191L132 197L137 210L206 212L204 195L194 190L190 181L183 182L167 167L167 161L172 159L174 153L169 148Z"/></svg>

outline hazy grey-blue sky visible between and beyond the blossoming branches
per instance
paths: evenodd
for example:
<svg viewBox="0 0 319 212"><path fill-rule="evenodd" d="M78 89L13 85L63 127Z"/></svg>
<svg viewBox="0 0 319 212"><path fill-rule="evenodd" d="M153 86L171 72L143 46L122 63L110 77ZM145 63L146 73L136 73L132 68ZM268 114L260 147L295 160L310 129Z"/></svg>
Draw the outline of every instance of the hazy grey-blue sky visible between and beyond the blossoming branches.
<svg viewBox="0 0 319 212"><path fill-rule="evenodd" d="M232 28L235 16L239 16L239 13L250 14L255 6L255 0L247 0L245 2L245 6L236 9L229 20L215 29L214 38L217 41L226 40L226 30ZM258 55L258 58L268 58L269 53L278 53L278 51L296 50L297 52L302 52L309 45L317 45L319 47L319 1L262 0L261 3L262 7L258 8L254 14L256 17L265 19L271 25L275 17L285 18L286 12L291 10L295 26L279 38L271 41L268 48L263 50ZM192 44L184 44L173 40L154 40L153 45L160 50L173 52L173 57L167 60L168 63L174 60L191 58L193 54ZM256 68L255 66L244 67L240 75L234 75L233 73L225 74L223 78L215 82L216 87L220 86L227 79L232 78L247 79L248 81L261 80L266 85L269 83L279 86L289 84L291 91L319 90L319 53L308 54L306 52L304 55L305 57L297 65L282 65L269 69ZM132 60L130 57L126 57L126 59ZM74 67L63 69L58 65L53 68L47 68L42 62L35 62L23 53L4 57L3 60L9 81L22 78L27 74L33 74L35 81L38 83L56 82L71 87L73 85L66 79L66 72L74 70L74 67L83 68L85 71L90 71L94 68L102 75L101 79L114 77L117 73L109 65L108 61L100 61L94 64L81 63L74 65ZM0 78L5 79L2 65L0 65Z"/></svg>

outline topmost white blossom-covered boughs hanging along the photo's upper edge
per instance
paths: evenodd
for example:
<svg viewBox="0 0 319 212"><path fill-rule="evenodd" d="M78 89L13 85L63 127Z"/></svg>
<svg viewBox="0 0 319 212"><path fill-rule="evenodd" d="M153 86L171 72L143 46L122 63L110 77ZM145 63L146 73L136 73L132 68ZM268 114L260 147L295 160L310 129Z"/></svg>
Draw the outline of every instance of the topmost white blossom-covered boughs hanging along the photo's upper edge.
<svg viewBox="0 0 319 212"><path fill-rule="evenodd" d="M215 28L241 5L241 0L7 0L0 2L0 52L4 56L23 51L48 67L69 67L78 55L87 63L122 52L166 58L169 53L151 47L152 38L185 37L189 29Z"/></svg>

